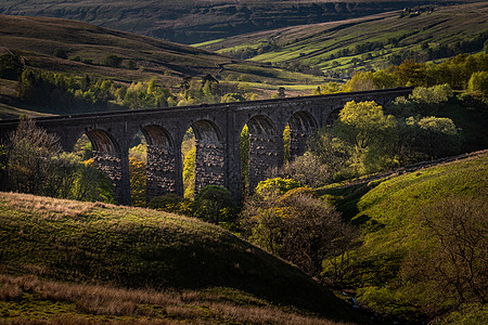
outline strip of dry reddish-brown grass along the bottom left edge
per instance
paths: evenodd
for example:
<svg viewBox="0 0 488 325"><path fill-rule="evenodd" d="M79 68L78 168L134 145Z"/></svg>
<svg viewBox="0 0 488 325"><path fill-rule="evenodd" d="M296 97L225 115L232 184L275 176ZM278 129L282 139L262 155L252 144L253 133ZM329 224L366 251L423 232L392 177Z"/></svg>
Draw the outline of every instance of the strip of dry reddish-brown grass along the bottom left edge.
<svg viewBox="0 0 488 325"><path fill-rule="evenodd" d="M219 297L205 291L156 291L121 289L88 284L55 283L34 275L0 274L0 303L22 299L28 292L39 301L75 302L79 315L55 314L49 320L10 318L0 324L105 324L97 315L116 318L115 324L345 324L300 315L273 306L242 306L219 302ZM85 315L85 316L82 316ZM87 318L87 316L89 318Z"/></svg>

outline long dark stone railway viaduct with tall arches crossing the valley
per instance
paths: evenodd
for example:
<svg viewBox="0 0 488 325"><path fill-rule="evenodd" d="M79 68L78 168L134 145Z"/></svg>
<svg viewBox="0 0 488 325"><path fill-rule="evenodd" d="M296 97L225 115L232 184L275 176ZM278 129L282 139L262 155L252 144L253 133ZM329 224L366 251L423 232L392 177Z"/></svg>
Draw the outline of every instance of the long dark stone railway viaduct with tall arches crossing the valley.
<svg viewBox="0 0 488 325"><path fill-rule="evenodd" d="M130 205L128 151L141 131L147 142L147 198L165 193L183 194L181 143L189 128L196 140L195 191L208 184L229 188L241 200L240 138L249 129L249 188L268 168L283 164L283 132L291 129L291 156L306 150L306 138L333 122L349 101L385 104L410 94L411 88L386 89L229 104L94 113L36 119L39 127L57 133L65 151L82 134L93 146L95 166L114 184L120 204ZM0 138L8 138L18 120L0 121Z"/></svg>

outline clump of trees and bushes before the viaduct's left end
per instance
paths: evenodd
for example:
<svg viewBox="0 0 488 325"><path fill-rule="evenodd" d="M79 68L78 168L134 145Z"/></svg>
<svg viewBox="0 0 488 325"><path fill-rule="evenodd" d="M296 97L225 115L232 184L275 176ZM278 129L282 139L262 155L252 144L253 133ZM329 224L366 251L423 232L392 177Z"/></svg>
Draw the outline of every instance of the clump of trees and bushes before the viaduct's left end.
<svg viewBox="0 0 488 325"><path fill-rule="evenodd" d="M112 184L93 159L64 153L57 136L21 119L5 150L2 190L79 200L115 203Z"/></svg>

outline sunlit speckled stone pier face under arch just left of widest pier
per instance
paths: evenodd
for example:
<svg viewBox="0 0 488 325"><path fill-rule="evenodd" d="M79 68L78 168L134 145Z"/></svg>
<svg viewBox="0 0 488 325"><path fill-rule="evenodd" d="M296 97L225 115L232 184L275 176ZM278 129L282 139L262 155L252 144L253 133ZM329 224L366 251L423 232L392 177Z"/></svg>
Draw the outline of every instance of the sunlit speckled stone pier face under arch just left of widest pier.
<svg viewBox="0 0 488 325"><path fill-rule="evenodd" d="M224 145L195 140L195 196L206 185L224 186Z"/></svg>

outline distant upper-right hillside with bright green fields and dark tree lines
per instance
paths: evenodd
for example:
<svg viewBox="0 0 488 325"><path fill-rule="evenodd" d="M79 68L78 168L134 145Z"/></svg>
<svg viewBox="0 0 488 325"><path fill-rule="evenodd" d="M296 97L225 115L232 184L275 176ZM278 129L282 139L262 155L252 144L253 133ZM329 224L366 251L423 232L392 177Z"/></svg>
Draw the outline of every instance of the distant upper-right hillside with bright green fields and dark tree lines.
<svg viewBox="0 0 488 325"><path fill-rule="evenodd" d="M454 46L461 47L461 52L479 51L487 39L488 2L484 1L287 27L213 41L201 48L257 62L299 62L321 69L377 69L410 56L428 61L455 55L455 51L448 51Z"/></svg>

